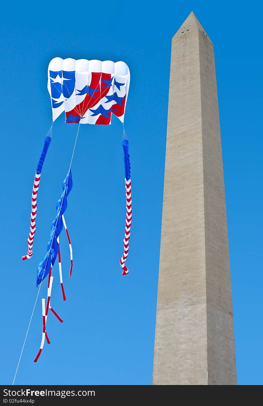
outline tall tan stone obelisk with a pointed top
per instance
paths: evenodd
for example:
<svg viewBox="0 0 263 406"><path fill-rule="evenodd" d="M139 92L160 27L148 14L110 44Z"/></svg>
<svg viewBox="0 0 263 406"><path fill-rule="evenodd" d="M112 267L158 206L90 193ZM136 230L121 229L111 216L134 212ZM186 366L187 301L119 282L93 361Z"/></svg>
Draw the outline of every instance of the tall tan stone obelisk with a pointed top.
<svg viewBox="0 0 263 406"><path fill-rule="evenodd" d="M213 44L194 13L172 39L154 385L235 385Z"/></svg>

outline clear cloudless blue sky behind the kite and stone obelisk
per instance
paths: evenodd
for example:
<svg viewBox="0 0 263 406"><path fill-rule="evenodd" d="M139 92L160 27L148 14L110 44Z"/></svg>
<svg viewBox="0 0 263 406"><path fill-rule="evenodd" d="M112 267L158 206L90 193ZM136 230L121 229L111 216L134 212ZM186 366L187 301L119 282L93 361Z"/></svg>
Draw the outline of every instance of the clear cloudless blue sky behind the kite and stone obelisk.
<svg viewBox="0 0 263 406"><path fill-rule="evenodd" d="M171 38L191 11L214 43L238 384L263 384L262 372L262 33L258 2L27 2L2 7L1 42L1 371L11 384L36 298L36 267L46 252L76 125L54 123L38 194L34 255L27 250L30 196L51 125L47 66L55 57L124 60L131 72L125 130L130 141L133 225L128 268L119 258L125 219L122 125L81 126L66 220L74 267L62 234L62 268L41 341L41 300L16 384L151 384L163 198ZM255 23L256 21L256 23ZM105 206L107 210L105 210ZM46 283L41 287L46 296Z"/></svg>

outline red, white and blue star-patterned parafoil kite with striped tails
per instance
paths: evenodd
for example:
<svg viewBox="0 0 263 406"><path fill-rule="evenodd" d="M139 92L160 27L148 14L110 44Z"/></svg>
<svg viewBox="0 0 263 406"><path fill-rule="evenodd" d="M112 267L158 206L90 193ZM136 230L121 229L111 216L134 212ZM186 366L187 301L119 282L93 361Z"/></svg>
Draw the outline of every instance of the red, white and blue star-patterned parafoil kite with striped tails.
<svg viewBox="0 0 263 406"><path fill-rule="evenodd" d="M64 111L66 115L66 123L80 124L111 124L112 114L124 122L124 113L128 97L130 85L130 71L124 62L112 62L111 60L87 60L87 59L62 59L54 58L49 63L48 67L48 82L47 88L51 97L52 117L53 122ZM53 125L53 123L52 123ZM52 126L51 126L52 128ZM77 136L79 127L77 130ZM124 132L125 133L125 132ZM75 140L75 145L77 141ZM49 145L51 143L51 131L45 137L43 150L39 159L33 190L32 190L32 208L30 217L30 233L28 237L28 252L22 257L23 260L29 259L33 254L33 241L36 232L36 198L41 178L41 171L45 161ZM125 170L125 189L126 189L126 222L124 235L124 253L120 259L122 267L122 275L128 274L128 268L125 261L128 257L130 226L132 220L132 201L131 201L131 181L130 181L130 155L128 153L128 140L122 140L124 151L124 170ZM60 322L63 320L51 307L51 289L52 289L52 270L56 258L58 257L58 268L60 274L60 284L62 289L63 300L66 300L62 280L62 268L60 257L59 235L64 227L68 238L70 249L70 277L73 268L73 255L71 240L66 227L64 213L67 208L68 194L73 187L71 164L74 155L75 146L71 158L68 173L63 182L63 192L56 204L56 218L51 224L51 233L47 244L47 253L43 260L39 263L37 269L36 286L39 287L43 280L48 276L47 302L42 299L42 316L43 316L43 332L41 346L34 362L38 360L44 346L45 339L50 343L47 336L46 324L49 309L58 318Z"/></svg>

